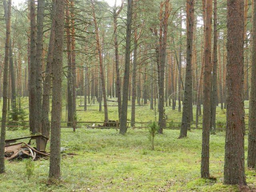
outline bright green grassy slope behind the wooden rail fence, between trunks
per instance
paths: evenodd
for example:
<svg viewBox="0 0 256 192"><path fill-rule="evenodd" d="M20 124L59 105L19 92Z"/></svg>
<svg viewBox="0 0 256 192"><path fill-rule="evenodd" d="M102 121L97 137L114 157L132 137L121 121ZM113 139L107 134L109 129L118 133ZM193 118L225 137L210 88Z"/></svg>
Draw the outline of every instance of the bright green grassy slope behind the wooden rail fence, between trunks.
<svg viewBox="0 0 256 192"><path fill-rule="evenodd" d="M116 100L116 98L108 98L109 100ZM63 100L62 102L62 120L66 120L66 101ZM92 102L92 100L91 100ZM182 112L178 112L178 101L176 102L176 110L172 110L171 106L166 107L166 115L167 115L167 121L168 122L181 122L182 119ZM84 98L81 98L81 104L84 104ZM130 101L128 102L130 104ZM78 110L83 110L84 107L79 106L80 105L80 98L76 99L76 108ZM92 105L98 105L98 102L95 101L95 104ZM117 102L108 102L108 105L117 105ZM246 124L248 124L248 107L249 102L244 102L245 108L245 121ZM22 98L22 108L25 109L25 111L28 114L28 98ZM88 106L87 111L77 111L77 120L78 121L98 121L102 122L104 121L104 110L103 110L103 102L102 102L102 112L99 112L98 106ZM2 101L0 101L0 115L2 114ZM150 110L149 102L148 106L136 106L136 112L135 112L135 120L136 122L149 122L155 120L155 111ZM194 114L194 121L196 119L196 108L193 107L193 114ZM127 118L130 120L131 117L131 107L128 106L128 114ZM117 120L118 119L118 108L117 107L108 107L108 118L110 120ZM28 120L28 115L27 118ZM156 111L156 120L158 120L158 112ZM224 124L226 122L226 109L221 110L220 106L216 108L216 122L221 122ZM202 123L202 116L199 116L199 123ZM137 126L140 126L141 124L137 124Z"/></svg>

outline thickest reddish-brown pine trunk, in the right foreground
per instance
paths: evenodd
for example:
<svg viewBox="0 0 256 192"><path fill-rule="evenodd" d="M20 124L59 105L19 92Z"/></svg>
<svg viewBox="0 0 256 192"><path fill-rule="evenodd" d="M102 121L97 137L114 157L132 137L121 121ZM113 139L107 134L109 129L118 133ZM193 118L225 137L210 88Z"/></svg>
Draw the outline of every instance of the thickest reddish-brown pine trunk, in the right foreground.
<svg viewBox="0 0 256 192"><path fill-rule="evenodd" d="M244 171L244 0L227 2L227 120L224 184L246 185Z"/></svg>

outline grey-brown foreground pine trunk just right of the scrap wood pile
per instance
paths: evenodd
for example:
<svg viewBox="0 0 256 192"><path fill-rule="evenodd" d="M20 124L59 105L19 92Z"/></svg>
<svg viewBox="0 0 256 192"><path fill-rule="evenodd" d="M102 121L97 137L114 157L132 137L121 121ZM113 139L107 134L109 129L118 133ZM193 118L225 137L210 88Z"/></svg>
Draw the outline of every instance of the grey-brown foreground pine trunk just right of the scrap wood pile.
<svg viewBox="0 0 256 192"><path fill-rule="evenodd" d="M54 52L52 62L52 123L51 123L51 156L50 156L50 179L60 178L60 120L62 104L62 51L64 36L64 7L65 1L56 0Z"/></svg>

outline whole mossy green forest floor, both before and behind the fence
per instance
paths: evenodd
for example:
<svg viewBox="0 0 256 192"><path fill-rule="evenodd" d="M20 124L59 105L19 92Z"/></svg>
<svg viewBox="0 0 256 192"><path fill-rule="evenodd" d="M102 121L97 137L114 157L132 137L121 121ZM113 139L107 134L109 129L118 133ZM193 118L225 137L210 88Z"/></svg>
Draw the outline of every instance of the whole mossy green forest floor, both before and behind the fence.
<svg viewBox="0 0 256 192"><path fill-rule="evenodd" d="M78 100L78 104L80 101ZM22 106L27 106L22 101ZM248 107L248 102L245 102ZM82 107L78 107L82 109ZM78 111L78 121L102 121L104 112L91 106ZM246 109L248 110L248 109ZM65 108L63 108L63 120ZM117 107L109 107L109 118L117 119ZM195 110L194 110L195 111ZM247 111L248 113L248 111ZM181 112L166 109L168 121L180 122ZM130 108L128 109L128 116ZM136 121L154 121L149 106L136 108ZM225 122L225 110L217 108L216 121ZM200 117L200 121L201 121ZM246 117L246 123L248 118ZM6 139L28 136L28 129L7 130ZM76 132L62 128L61 146L73 157L62 157L62 180L48 185L49 160L38 160L34 175L26 177L25 161L6 162L6 173L0 175L0 191L5 192L238 192L238 186L223 185L225 132L210 136L210 175L216 180L200 178L202 130L191 130L178 139L179 130L164 130L155 138L151 150L148 129L129 128L126 135L115 129L79 128ZM247 134L245 157L247 159ZM49 150L49 144L47 146ZM246 181L256 191L256 170L246 168Z"/></svg>

